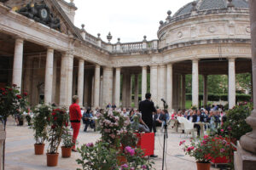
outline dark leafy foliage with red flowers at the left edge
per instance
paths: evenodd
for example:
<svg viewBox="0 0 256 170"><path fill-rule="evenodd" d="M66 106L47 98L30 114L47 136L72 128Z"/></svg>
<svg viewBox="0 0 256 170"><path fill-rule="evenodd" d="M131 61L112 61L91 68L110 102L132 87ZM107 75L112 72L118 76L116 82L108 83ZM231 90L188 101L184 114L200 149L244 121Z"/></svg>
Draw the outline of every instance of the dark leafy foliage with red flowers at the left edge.
<svg viewBox="0 0 256 170"><path fill-rule="evenodd" d="M14 116L27 110L27 94L20 94L17 85L0 88L0 116L7 120L8 116Z"/></svg>

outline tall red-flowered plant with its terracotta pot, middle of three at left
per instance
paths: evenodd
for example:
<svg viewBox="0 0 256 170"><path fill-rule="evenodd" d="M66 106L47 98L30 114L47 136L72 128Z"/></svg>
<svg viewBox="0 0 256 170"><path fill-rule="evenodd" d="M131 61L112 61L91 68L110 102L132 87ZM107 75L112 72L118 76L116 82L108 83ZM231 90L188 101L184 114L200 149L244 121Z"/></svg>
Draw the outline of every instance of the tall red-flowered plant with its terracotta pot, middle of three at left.
<svg viewBox="0 0 256 170"><path fill-rule="evenodd" d="M58 164L58 149L61 144L61 136L68 121L68 115L64 109L55 109L50 115L49 149L47 150L47 166L55 167Z"/></svg>

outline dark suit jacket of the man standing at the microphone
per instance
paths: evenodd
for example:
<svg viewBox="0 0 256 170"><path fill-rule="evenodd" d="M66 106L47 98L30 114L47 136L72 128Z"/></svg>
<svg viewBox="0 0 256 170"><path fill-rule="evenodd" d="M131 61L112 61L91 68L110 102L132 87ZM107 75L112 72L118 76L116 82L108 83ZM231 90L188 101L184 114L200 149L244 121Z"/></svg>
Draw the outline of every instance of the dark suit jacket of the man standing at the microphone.
<svg viewBox="0 0 256 170"><path fill-rule="evenodd" d="M139 104L139 111L142 113L143 122L147 125L153 124L153 112L156 112L154 103L145 99Z"/></svg>

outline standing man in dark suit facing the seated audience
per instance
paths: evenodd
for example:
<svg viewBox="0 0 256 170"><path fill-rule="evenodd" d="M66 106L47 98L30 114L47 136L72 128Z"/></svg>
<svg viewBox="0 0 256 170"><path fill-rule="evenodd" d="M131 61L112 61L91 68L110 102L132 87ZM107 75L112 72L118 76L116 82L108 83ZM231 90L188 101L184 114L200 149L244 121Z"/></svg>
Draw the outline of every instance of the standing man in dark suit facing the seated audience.
<svg viewBox="0 0 256 170"><path fill-rule="evenodd" d="M145 95L145 100L141 101L139 104L139 111L142 113L143 122L149 128L149 131L152 132L153 128L153 112L155 113L154 102L151 101L151 94ZM150 156L150 157L157 157L157 156Z"/></svg>

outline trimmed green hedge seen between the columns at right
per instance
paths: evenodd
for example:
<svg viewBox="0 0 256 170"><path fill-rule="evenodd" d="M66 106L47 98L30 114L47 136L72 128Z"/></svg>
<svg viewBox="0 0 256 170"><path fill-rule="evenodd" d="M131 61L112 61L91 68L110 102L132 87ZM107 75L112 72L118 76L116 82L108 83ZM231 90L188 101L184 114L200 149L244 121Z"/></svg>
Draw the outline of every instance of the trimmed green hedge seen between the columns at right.
<svg viewBox="0 0 256 170"><path fill-rule="evenodd" d="M186 94L186 99L191 100L192 94ZM199 99L203 99L203 94L199 94ZM252 96L250 94L236 94L236 101L250 101ZM208 101L228 101L228 94L208 94Z"/></svg>

